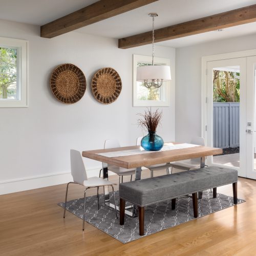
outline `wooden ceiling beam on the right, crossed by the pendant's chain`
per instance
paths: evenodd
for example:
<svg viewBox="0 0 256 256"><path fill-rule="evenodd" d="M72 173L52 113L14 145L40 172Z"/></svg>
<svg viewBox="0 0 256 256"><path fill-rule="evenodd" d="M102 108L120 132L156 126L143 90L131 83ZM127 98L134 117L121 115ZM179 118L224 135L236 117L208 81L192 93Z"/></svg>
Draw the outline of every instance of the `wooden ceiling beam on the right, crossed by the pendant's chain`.
<svg viewBox="0 0 256 256"><path fill-rule="evenodd" d="M256 22L256 5L231 10L204 18L155 30L155 42L196 35L232 26ZM120 38L118 47L128 49L152 43L152 31Z"/></svg>

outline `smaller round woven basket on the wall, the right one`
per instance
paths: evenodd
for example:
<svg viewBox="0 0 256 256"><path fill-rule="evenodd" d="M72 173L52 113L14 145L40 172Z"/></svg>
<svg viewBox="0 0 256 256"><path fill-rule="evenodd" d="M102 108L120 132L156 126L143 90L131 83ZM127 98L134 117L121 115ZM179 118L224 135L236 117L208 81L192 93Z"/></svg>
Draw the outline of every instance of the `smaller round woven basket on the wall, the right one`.
<svg viewBox="0 0 256 256"><path fill-rule="evenodd" d="M110 104L114 102L122 90L119 74L112 68L100 69L92 79L92 92L99 102Z"/></svg>

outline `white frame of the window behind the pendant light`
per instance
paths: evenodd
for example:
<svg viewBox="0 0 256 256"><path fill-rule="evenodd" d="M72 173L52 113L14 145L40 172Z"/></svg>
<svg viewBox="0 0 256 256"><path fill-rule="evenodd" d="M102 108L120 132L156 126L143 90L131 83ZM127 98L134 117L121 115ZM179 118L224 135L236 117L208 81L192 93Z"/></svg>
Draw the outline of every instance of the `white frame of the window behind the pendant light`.
<svg viewBox="0 0 256 256"><path fill-rule="evenodd" d="M170 60L167 58L155 57L155 63L170 66ZM170 105L170 81L164 82L160 87L161 100L139 100L137 98L137 63L152 63L152 56L133 55L133 106L169 106Z"/></svg>

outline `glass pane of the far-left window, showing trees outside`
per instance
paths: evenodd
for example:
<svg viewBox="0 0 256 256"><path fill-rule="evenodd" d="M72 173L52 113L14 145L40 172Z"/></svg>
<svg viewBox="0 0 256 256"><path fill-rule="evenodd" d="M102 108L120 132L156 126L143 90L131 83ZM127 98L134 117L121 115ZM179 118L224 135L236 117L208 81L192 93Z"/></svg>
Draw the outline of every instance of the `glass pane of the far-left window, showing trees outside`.
<svg viewBox="0 0 256 256"><path fill-rule="evenodd" d="M17 99L17 49L0 47L0 100Z"/></svg>

